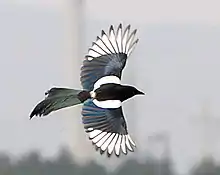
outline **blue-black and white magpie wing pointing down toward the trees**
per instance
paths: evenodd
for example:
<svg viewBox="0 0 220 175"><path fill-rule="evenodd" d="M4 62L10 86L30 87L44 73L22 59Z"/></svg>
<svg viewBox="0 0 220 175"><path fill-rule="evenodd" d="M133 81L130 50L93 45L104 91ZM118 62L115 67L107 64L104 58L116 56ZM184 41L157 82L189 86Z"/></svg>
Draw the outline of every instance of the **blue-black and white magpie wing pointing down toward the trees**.
<svg viewBox="0 0 220 175"><path fill-rule="evenodd" d="M93 144L100 153L113 151L116 156L122 151L127 154L133 151L135 143L128 134L122 108L105 109L97 107L92 100L87 100L82 108L83 124Z"/></svg>

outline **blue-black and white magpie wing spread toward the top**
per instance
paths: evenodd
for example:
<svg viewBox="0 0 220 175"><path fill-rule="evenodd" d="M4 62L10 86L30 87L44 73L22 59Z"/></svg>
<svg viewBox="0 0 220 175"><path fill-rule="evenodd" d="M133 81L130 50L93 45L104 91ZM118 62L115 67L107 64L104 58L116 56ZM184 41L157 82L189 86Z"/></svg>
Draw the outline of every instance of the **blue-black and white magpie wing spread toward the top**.
<svg viewBox="0 0 220 175"><path fill-rule="evenodd" d="M94 83L103 76L115 75L121 78L127 57L136 46L136 29L130 33L130 25L122 30L120 24L115 30L113 26L107 35L103 30L101 37L92 43L81 68L81 84L84 89L92 90Z"/></svg>

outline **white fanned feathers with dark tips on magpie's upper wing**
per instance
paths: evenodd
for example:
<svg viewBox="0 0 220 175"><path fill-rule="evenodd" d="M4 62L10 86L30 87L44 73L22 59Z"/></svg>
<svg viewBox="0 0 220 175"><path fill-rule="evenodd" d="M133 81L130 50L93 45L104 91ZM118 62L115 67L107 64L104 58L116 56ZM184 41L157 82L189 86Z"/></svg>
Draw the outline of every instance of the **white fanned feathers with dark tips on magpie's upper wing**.
<svg viewBox="0 0 220 175"><path fill-rule="evenodd" d="M122 24L120 24L115 32L114 27L111 25L108 35L102 30L101 37L97 37L96 41L93 42L86 58L92 61L93 58L102 55L118 53L130 56L138 42L138 39L135 39L137 30L135 29L130 33L130 28L131 26L128 25L123 31Z"/></svg>

